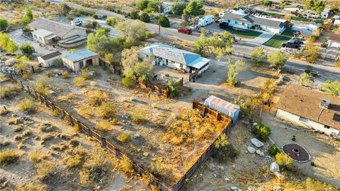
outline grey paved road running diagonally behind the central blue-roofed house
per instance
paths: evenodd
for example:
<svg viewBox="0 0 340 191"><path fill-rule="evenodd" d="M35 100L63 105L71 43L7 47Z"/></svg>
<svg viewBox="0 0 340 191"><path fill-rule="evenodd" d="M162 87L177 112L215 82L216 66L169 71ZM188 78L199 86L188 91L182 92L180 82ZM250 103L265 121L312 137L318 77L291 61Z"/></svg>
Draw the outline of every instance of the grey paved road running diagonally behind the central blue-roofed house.
<svg viewBox="0 0 340 191"><path fill-rule="evenodd" d="M63 0L49 0L52 3L56 4L62 4L64 3ZM84 6L78 5L78 4L72 4L69 2L66 2L69 6L72 8L86 8ZM115 16L120 19L130 19L130 18L124 18L124 16L113 13L111 11L106 11L103 9L95 9L92 8L92 10L96 11L99 15L107 15L107 16ZM158 33L159 26L155 25L154 23L145 23L148 30ZM194 41L198 39L198 35L186 35L183 33L178 33L175 28L161 28L161 35L163 36L169 36L169 37L175 37L178 40L188 40L188 41ZM236 52L242 52L245 54L250 54L252 50L254 49L256 45L249 44L248 42L236 42L234 45L234 51ZM268 52L273 52L275 50L268 49ZM296 59L289 59L288 62L285 64L286 67L290 69L294 69L297 71L303 71L305 67L307 66L306 62L302 62L300 60ZM322 61L319 64L313 65L314 71L317 71L318 74L321 76L322 80L330 79L330 80L340 80L340 69L336 69L333 66L331 66L331 62Z"/></svg>

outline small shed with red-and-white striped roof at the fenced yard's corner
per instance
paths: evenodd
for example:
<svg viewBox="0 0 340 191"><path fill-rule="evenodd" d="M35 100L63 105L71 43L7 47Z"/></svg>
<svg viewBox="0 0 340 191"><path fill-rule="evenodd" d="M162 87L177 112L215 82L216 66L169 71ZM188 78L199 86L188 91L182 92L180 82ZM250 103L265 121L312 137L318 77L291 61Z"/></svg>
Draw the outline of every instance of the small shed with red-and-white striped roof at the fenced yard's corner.
<svg viewBox="0 0 340 191"><path fill-rule="evenodd" d="M205 101L204 105L208 108L215 109L219 112L232 117L233 123L237 121L239 118L239 106L234 105L233 103L229 103L226 100L222 100L221 98L217 98L216 96L209 96Z"/></svg>

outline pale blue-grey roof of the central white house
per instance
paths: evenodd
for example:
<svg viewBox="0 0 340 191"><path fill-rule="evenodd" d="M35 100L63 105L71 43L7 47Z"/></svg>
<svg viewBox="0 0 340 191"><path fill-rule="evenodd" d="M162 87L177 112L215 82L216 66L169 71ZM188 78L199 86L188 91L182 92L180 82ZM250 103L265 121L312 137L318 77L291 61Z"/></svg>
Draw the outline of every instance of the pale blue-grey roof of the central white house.
<svg viewBox="0 0 340 191"><path fill-rule="evenodd" d="M210 62L210 59L203 58L200 54L188 52L186 50L181 50L158 42L142 48L140 53L147 55L153 54L156 57L162 57L180 64L193 66L197 69L200 69L201 66Z"/></svg>

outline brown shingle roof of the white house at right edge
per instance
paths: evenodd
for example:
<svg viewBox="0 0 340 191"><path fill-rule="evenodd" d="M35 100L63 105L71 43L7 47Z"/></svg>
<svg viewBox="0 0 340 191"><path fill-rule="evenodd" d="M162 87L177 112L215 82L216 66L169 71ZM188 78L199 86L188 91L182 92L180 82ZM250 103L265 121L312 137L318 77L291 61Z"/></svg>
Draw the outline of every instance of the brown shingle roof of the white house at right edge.
<svg viewBox="0 0 340 191"><path fill-rule="evenodd" d="M330 100L328 109L319 107L322 99ZM283 91L278 108L314 122L340 129L340 120L335 120L338 115L340 116L340 98L329 96L326 93L302 88L291 83Z"/></svg>

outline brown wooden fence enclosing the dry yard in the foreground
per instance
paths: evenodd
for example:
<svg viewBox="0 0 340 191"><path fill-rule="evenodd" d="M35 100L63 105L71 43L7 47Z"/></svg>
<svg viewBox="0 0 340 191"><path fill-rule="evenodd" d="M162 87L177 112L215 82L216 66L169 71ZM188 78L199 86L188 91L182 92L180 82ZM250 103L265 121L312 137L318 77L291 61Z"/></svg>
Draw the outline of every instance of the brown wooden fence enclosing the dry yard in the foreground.
<svg viewBox="0 0 340 191"><path fill-rule="evenodd" d="M21 84L21 87L23 88L23 90L27 91L30 94L30 96L35 98L35 100L38 100L40 103L45 105L47 108L50 108L51 110L57 112L58 115L60 115L62 119L68 120L70 125L72 126L78 125L79 130L81 132L91 137L94 137L96 141L101 143L101 146L111 151L111 153L113 153L119 160L123 160L124 158L130 159L132 168L135 170L135 172L140 176L146 175L146 174L150 175L150 184L157 185L161 190L176 190L176 191L181 190L183 188L183 185L186 183L186 180L192 178L196 170L200 168L202 163L210 156L212 151L214 151L215 141L220 138L222 133L229 132L229 127L232 124L232 119L228 117L227 115L217 112L216 110L207 108L202 103L198 103L196 102L196 100L193 100L193 109L200 110L201 112L203 112L203 115L208 115L209 117L215 117L216 120L224 122L225 128L222 130L222 133L208 147L208 149L205 150L205 152L200 156L200 158L198 158L196 163L194 163L193 166L191 166L191 168L182 176L182 178L180 178L174 185L171 185L171 187L169 187L166 184L162 183L162 181L159 180L159 178L157 178L157 176L155 176L153 173L151 173L150 170L145 168L145 166L142 166L139 163L135 162L129 154L125 154L125 152L121 151L114 144L112 144L111 141L108 141L105 137L101 136L101 134L98 134L98 132L96 132L96 129L93 129L89 127L88 125L84 124L84 122L81 122L79 119L77 119L77 117L74 117L74 115L70 114L67 110L64 110L64 108L62 108L60 105L57 105L56 103L53 103L51 100L49 100L45 96L42 96L40 93L35 91L33 88L30 88L29 86L24 86L23 81L18 81L18 82ZM179 81L179 83L183 84L183 79Z"/></svg>

